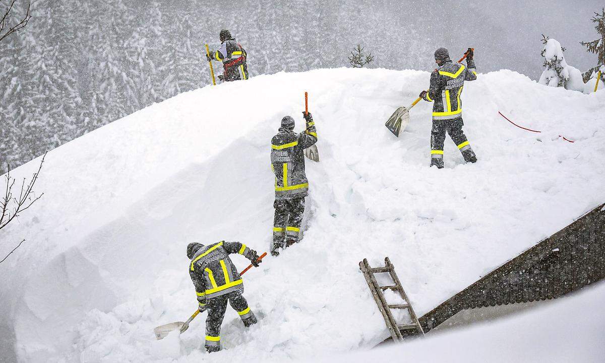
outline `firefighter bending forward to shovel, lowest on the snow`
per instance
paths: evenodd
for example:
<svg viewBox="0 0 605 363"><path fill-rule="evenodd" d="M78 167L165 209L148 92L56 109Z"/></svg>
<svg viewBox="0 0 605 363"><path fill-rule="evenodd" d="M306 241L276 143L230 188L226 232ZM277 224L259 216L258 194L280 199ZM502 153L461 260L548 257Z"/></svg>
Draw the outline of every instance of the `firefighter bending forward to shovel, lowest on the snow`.
<svg viewBox="0 0 605 363"><path fill-rule="evenodd" d="M240 242L218 242L208 246L200 243L190 243L187 246L189 275L195 286L200 312L208 310L206 318L206 350L209 353L221 349L221 324L227 301L240 315L246 327L256 324L257 318L250 310L244 296L244 283L240 274L229 258L229 254L239 253L258 267L255 250Z"/></svg>

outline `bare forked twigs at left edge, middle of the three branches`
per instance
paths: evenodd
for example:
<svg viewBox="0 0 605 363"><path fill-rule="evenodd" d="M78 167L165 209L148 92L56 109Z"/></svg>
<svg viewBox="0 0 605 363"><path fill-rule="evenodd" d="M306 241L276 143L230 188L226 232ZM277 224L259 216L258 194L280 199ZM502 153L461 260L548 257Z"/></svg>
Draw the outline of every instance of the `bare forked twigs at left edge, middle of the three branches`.
<svg viewBox="0 0 605 363"><path fill-rule="evenodd" d="M42 165L44 165L44 159L46 158L46 154L42 156L42 161L40 161L40 166L38 167L38 172L34 173L31 177L30 182L25 185L26 179L23 178L21 183L21 191L19 192L19 198L13 198L12 188L15 185L15 179L10 177L10 167L8 168L8 173L5 177L6 179L6 188L4 191L4 198L0 201L0 208L2 209L2 215L0 215L0 230L4 228L7 224L10 223L13 219L19 216L24 210L31 207L38 199L42 198L44 193L39 196L36 196L33 188L38 181L38 176L40 175L40 171L42 170ZM33 198L33 199L32 199ZM13 202L14 206L9 207L10 202Z"/></svg>

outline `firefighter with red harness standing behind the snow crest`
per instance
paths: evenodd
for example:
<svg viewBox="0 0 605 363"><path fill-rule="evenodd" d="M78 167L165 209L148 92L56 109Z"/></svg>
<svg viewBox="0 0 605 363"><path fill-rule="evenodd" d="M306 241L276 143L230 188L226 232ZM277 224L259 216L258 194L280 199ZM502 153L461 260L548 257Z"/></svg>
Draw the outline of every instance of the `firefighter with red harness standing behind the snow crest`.
<svg viewBox="0 0 605 363"><path fill-rule="evenodd" d="M246 64L246 50L231 37L229 30L223 29L219 35L221 47L210 56L206 55L208 61L223 62L223 75L218 76L221 81L237 81L248 79L248 65Z"/></svg>

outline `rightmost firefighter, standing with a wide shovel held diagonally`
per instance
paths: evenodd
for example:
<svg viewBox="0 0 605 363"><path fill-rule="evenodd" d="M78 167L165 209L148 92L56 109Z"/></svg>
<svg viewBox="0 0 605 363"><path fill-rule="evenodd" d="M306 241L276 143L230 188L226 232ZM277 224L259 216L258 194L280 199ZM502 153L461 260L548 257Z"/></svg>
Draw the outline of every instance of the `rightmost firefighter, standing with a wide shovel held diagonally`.
<svg viewBox="0 0 605 363"><path fill-rule="evenodd" d="M462 88L464 81L477 79L473 49L466 51L466 66L454 63L446 48L435 51L439 68L431 73L431 85L420 97L433 104L433 130L431 130L431 166L443 168L443 142L445 133L456 143L465 162L477 162L477 156L462 132Z"/></svg>

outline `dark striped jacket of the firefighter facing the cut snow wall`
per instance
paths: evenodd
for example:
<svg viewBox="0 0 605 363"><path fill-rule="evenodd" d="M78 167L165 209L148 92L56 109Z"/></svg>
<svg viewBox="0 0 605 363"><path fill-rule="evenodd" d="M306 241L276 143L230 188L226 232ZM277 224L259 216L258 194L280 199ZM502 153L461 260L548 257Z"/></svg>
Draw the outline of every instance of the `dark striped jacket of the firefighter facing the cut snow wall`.
<svg viewBox="0 0 605 363"><path fill-rule="evenodd" d="M280 128L271 140L271 167L275 174L275 199L302 198L309 194L309 181L304 172L304 152L317 142L312 118L304 132Z"/></svg>

